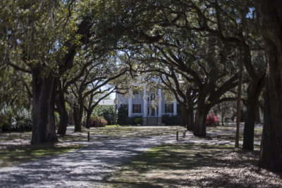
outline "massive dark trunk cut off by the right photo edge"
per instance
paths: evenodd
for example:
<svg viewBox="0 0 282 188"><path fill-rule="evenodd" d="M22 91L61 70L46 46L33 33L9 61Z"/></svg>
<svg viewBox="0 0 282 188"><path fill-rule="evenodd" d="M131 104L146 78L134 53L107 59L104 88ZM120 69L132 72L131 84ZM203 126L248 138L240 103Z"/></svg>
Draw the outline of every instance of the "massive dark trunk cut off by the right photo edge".
<svg viewBox="0 0 282 188"><path fill-rule="evenodd" d="M257 0L256 6L267 63L259 165L282 171L282 2Z"/></svg>

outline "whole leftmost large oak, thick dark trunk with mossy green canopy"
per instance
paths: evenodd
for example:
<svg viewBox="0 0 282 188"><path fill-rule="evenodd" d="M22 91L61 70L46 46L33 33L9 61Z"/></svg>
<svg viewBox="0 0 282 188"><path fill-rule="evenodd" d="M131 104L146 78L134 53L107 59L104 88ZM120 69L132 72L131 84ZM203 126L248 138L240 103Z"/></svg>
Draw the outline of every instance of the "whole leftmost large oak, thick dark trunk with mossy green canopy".
<svg viewBox="0 0 282 188"><path fill-rule="evenodd" d="M5 62L32 75L31 143L56 142L54 104L60 77L90 41L118 41L124 17L116 15L124 7L115 1L6 1L4 9Z"/></svg>

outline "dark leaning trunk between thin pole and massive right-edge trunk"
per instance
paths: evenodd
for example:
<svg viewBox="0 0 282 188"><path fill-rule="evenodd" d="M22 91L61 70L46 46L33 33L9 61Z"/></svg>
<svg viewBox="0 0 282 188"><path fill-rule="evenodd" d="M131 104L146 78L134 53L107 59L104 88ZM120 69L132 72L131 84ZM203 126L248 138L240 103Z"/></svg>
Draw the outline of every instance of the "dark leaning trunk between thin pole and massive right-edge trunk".
<svg viewBox="0 0 282 188"><path fill-rule="evenodd" d="M255 119L256 109L258 106L259 94L264 87L264 75L260 80L252 82L247 89L247 114L245 116L245 127L243 133L243 149L254 150L254 131L255 131Z"/></svg>

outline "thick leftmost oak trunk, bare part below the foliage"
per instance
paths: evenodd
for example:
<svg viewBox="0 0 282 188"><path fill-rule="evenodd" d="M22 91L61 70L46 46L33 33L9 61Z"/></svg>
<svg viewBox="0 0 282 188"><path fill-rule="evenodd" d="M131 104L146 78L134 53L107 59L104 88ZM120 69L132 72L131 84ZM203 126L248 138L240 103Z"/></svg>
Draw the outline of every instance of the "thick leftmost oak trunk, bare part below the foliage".
<svg viewBox="0 0 282 188"><path fill-rule="evenodd" d="M58 142L55 126L56 77L43 77L41 68L32 70L32 139L31 144Z"/></svg>

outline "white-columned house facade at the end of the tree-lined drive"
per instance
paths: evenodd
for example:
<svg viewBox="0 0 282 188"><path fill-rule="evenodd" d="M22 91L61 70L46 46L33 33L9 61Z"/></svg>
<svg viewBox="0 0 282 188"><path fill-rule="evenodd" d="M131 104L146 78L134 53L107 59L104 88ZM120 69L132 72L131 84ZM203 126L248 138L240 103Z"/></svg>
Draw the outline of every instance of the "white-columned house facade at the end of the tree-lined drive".
<svg viewBox="0 0 282 188"><path fill-rule="evenodd" d="M148 89L145 85L131 89L129 94L118 94L117 106L128 109L128 117L142 116L143 125L161 125L162 115L179 113L176 100L167 102L161 89Z"/></svg>

